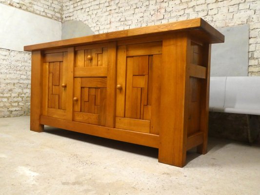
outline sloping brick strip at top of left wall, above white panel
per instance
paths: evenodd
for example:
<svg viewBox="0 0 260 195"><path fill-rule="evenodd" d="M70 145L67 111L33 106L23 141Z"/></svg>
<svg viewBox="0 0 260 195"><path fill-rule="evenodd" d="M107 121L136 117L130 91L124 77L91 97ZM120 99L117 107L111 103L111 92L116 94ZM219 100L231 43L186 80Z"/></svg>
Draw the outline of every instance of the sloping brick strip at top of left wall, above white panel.
<svg viewBox="0 0 260 195"><path fill-rule="evenodd" d="M0 3L53 20L62 20L62 0L0 0Z"/></svg>

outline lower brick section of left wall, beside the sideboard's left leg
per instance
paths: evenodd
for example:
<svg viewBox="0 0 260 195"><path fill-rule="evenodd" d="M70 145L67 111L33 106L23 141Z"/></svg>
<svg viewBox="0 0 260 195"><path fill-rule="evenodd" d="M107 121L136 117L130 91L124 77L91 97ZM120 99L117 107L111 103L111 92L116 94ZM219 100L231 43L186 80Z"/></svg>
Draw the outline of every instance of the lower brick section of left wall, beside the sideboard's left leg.
<svg viewBox="0 0 260 195"><path fill-rule="evenodd" d="M0 48L0 117L29 115L31 54Z"/></svg>

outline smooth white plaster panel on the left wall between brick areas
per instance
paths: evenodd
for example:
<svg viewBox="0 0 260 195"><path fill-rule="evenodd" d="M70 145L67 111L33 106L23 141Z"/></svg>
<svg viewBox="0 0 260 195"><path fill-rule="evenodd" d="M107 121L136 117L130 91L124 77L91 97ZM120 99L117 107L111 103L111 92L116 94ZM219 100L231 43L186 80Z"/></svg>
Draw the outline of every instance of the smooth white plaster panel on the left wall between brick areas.
<svg viewBox="0 0 260 195"><path fill-rule="evenodd" d="M60 38L60 21L0 3L0 48L23 51L24 45Z"/></svg>

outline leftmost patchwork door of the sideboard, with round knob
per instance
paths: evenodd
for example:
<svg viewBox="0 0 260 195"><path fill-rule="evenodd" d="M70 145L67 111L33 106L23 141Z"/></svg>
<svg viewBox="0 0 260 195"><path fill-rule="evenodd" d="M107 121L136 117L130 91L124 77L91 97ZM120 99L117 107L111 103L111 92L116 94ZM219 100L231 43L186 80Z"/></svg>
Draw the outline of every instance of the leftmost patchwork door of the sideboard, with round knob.
<svg viewBox="0 0 260 195"><path fill-rule="evenodd" d="M43 57L42 115L67 118L67 52Z"/></svg>

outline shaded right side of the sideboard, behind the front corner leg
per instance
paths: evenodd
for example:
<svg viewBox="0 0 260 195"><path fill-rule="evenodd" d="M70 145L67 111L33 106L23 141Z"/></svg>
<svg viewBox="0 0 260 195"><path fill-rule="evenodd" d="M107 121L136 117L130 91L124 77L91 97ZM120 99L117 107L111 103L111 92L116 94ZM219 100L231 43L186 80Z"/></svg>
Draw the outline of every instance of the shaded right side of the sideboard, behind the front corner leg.
<svg viewBox="0 0 260 195"><path fill-rule="evenodd" d="M198 146L198 152L206 153L208 132L208 86L210 71L210 46L191 41L188 95L188 148Z"/></svg>

